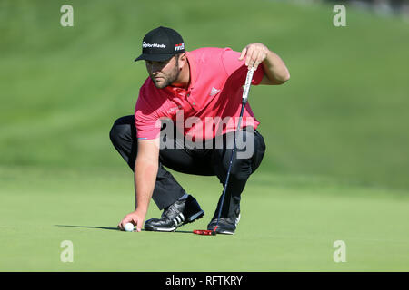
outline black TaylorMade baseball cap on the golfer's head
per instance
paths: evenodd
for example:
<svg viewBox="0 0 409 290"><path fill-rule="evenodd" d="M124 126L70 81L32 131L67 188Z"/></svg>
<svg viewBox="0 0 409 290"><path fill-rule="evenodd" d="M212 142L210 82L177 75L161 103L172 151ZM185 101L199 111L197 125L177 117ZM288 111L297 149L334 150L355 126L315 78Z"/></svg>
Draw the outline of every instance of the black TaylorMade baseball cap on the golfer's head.
<svg viewBox="0 0 409 290"><path fill-rule="evenodd" d="M140 60L162 62L176 53L185 53L182 36L172 28L159 26L145 35L142 54L135 59L135 62Z"/></svg>

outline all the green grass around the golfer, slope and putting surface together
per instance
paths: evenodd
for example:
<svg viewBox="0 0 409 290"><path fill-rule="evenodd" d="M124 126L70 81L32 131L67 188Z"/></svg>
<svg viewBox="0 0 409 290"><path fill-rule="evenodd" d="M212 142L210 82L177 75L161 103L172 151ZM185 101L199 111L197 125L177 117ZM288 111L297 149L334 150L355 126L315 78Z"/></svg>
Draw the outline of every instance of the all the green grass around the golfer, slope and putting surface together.
<svg viewBox="0 0 409 290"><path fill-rule="evenodd" d="M348 7L335 28L331 5L283 1L72 0L63 28L65 4L0 2L0 270L408 270L407 22ZM267 150L234 237L109 229L134 189L108 131L134 111L146 73L133 59L158 25L188 50L261 42L289 67L283 86L251 91ZM218 180L175 175L206 211L181 230L205 228Z"/></svg>

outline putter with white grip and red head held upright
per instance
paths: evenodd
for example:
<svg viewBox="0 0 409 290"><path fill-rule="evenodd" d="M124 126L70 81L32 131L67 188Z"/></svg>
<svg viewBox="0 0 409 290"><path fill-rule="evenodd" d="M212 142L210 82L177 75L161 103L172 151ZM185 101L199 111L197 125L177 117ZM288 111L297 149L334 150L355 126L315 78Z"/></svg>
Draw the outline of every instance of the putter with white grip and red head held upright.
<svg viewBox="0 0 409 290"><path fill-rule="evenodd" d="M230 177L230 171L232 169L232 164L233 164L233 156L234 152L236 150L236 145L235 145L235 133L240 130L240 125L242 123L243 119L243 112L244 112L244 107L245 103L247 102L247 97L248 97L248 92L250 90L250 85L252 84L252 79L253 79L253 73L254 73L254 67L250 68L247 72L247 77L245 78L245 83L244 83L244 90L243 90L243 97L242 97L242 109L240 111L240 117L239 121L237 124L236 131L234 131L234 140L233 140L233 150L232 150L232 155L230 156L230 162L229 162L229 168L227 169L227 176L224 181L224 189L223 189L223 194L222 194L222 200L220 202L220 208L219 212L217 213L217 222L216 226L214 227L214 230L210 229L195 229L193 232L196 235L204 235L204 236L215 236L216 235L216 230L217 227L219 227L219 220L220 220L220 215L222 214L222 208L223 208L223 203L224 203L224 196L225 196L225 190L227 189L227 184L229 182L229 177Z"/></svg>

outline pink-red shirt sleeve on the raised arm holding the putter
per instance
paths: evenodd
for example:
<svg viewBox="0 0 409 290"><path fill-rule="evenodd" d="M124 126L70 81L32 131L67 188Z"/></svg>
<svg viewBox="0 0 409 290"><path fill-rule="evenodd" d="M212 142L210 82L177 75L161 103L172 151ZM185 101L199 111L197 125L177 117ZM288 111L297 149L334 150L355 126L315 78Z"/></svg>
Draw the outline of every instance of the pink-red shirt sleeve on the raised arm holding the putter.
<svg viewBox="0 0 409 290"><path fill-rule="evenodd" d="M240 57L241 53L234 52L231 48L227 47L224 48L222 53L222 63L224 66L224 71L230 77L237 78L238 82L245 81L245 76L247 74L247 67L245 66L245 58L243 61L239 61L238 58ZM264 76L264 68L263 65L260 64L257 70L253 74L252 84L257 85L259 84Z"/></svg>

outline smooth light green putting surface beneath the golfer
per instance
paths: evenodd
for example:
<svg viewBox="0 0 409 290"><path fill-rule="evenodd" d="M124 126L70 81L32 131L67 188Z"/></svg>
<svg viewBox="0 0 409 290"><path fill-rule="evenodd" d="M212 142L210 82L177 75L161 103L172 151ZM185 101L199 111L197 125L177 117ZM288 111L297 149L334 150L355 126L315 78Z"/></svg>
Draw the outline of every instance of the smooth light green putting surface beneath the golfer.
<svg viewBox="0 0 409 290"><path fill-rule="evenodd" d="M175 174L205 217L175 233L115 229L132 210L129 170L1 168L1 271L407 271L407 192L334 179L254 174L234 236L196 236L221 192ZM147 218L160 212L151 205ZM60 244L74 244L63 263ZM346 262L335 263L335 240ZM172 263L169 263L172 261Z"/></svg>

